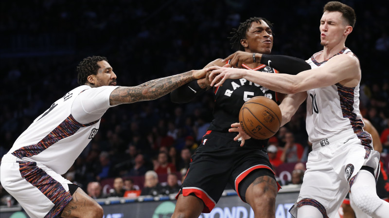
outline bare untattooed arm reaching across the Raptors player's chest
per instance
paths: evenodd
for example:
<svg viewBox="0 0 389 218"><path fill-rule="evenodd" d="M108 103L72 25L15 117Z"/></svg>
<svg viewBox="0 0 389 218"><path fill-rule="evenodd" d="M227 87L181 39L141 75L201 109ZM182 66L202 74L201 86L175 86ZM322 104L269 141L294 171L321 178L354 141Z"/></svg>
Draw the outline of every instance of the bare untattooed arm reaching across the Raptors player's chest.
<svg viewBox="0 0 389 218"><path fill-rule="evenodd" d="M321 67L303 71L297 75L264 73L252 70L210 67L211 86L220 86L226 79L245 78L248 81L281 93L297 93L331 86L336 83L355 87L361 77L359 61L352 55L336 55Z"/></svg>

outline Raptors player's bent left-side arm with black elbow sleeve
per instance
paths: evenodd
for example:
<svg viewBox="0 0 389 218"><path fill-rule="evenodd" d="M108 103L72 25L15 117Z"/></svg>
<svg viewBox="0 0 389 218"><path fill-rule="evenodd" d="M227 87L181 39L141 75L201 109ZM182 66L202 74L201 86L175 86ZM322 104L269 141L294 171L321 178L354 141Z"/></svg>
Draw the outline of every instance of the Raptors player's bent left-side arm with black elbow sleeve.
<svg viewBox="0 0 389 218"><path fill-rule="evenodd" d="M211 66L225 66L224 62L222 62L222 59L216 59L212 61L211 63L207 64L207 66L204 67L204 69L211 67ZM211 72L208 72L205 78L193 80L176 90L173 90L170 93L170 99L174 103L187 103L195 99L195 97L201 95L205 91L211 88L211 81L209 80L209 74Z"/></svg>

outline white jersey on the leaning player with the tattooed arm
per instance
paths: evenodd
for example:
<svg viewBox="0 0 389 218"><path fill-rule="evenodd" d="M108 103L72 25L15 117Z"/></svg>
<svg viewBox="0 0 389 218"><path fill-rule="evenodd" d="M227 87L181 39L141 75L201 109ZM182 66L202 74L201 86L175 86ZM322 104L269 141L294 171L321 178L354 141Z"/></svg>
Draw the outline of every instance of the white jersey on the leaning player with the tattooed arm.
<svg viewBox="0 0 389 218"><path fill-rule="evenodd" d="M64 174L99 129L117 87L80 86L58 99L16 140L8 154Z"/></svg>

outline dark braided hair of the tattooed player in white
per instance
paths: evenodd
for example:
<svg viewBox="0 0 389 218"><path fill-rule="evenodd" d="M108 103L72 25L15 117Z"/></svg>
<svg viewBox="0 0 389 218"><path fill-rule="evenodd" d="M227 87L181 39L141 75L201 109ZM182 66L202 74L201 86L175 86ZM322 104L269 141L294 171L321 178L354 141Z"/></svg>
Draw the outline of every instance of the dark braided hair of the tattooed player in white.
<svg viewBox="0 0 389 218"><path fill-rule="evenodd" d="M97 64L97 62L105 60L108 62L106 57L102 56L91 56L84 58L78 66L77 66L77 79L78 84L85 85L87 83L87 78L89 75L96 75L97 71L99 70L100 66Z"/></svg>

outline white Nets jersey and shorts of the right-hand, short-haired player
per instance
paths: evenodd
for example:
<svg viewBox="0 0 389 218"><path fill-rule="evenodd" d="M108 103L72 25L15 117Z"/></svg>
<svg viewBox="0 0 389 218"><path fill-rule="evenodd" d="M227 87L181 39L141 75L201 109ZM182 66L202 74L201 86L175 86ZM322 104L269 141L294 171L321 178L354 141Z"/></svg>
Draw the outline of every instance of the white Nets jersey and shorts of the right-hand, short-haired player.
<svg viewBox="0 0 389 218"><path fill-rule="evenodd" d="M315 59L321 52L307 60L312 69L325 64L326 60L318 63ZM337 55L348 52L344 48ZM376 168L371 158L371 135L363 130L359 84L350 88L337 83L307 93L306 129L312 152L299 198L290 212L297 217L298 207L311 205L324 217L334 218L360 168Z"/></svg>

